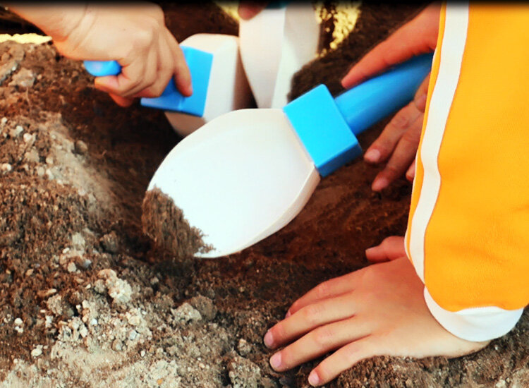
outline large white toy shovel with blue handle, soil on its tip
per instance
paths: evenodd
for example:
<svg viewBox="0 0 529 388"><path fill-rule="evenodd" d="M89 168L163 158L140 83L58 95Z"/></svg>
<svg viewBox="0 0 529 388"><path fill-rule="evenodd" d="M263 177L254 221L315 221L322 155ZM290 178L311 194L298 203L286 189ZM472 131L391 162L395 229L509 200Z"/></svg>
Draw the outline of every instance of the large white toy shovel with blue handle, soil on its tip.
<svg viewBox="0 0 529 388"><path fill-rule="evenodd" d="M413 99L432 55L417 56L336 98L319 85L284 109L241 109L205 124L166 156L159 188L213 247L236 253L288 224L327 176L358 157L356 135Z"/></svg>

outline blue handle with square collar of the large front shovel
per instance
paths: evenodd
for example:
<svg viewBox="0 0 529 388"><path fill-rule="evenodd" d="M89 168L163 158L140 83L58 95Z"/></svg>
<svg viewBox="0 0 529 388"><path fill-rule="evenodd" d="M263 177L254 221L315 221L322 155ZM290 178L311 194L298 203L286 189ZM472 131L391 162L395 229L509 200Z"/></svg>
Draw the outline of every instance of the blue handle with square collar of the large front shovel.
<svg viewBox="0 0 529 388"><path fill-rule="evenodd" d="M356 135L413 99L432 54L417 56L334 99L318 85L283 111L321 176L362 154Z"/></svg>

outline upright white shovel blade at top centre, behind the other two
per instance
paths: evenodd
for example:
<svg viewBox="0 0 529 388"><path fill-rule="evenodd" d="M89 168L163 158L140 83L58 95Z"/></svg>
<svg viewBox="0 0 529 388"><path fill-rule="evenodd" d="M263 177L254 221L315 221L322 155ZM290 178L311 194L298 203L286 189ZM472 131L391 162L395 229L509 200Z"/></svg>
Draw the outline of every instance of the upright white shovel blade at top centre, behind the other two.
<svg viewBox="0 0 529 388"><path fill-rule="evenodd" d="M291 78L315 58L320 23L309 1L273 1L239 21L241 59L259 108L282 108Z"/></svg>

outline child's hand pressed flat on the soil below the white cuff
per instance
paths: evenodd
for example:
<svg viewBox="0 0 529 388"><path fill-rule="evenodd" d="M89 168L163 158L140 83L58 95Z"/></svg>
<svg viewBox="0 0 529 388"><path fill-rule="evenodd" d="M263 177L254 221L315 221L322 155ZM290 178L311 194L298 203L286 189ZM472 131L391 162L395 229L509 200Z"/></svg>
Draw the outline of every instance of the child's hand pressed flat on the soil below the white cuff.
<svg viewBox="0 0 529 388"><path fill-rule="evenodd" d="M403 253L402 238L368 251L375 261L391 261L325 281L269 329L269 348L288 345L270 358L274 370L336 350L310 373L309 382L316 386L372 356L457 357L487 345L455 337L432 317L411 262L404 255L397 258Z"/></svg>

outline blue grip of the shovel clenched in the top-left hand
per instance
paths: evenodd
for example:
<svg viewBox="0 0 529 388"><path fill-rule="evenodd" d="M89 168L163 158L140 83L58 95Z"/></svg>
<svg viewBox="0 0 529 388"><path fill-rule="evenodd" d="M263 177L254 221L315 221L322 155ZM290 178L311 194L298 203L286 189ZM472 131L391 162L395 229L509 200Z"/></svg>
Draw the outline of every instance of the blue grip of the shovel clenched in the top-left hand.
<svg viewBox="0 0 529 388"><path fill-rule="evenodd" d="M181 46L181 49L191 73L193 95L184 97L176 89L174 79L171 79L160 97L142 98L141 104L144 107L178 111L200 117L204 114L206 106L213 54L193 47ZM121 73L121 66L116 61L85 61L85 68L88 73L96 77Z"/></svg>

